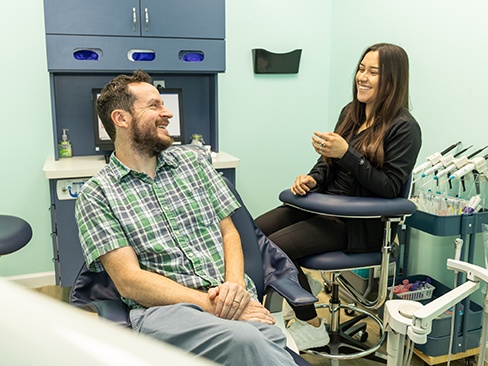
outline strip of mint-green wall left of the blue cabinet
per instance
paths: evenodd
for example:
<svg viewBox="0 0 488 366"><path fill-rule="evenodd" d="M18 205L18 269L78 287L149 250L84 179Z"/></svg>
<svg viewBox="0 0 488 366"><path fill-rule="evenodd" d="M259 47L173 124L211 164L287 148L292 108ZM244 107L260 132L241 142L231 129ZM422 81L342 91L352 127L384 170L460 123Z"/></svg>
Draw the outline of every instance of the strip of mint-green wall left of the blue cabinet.
<svg viewBox="0 0 488 366"><path fill-rule="evenodd" d="M0 258L0 275L53 271L49 188L42 167L53 155L49 74L40 0L2 4L0 213L33 228L31 242Z"/></svg>

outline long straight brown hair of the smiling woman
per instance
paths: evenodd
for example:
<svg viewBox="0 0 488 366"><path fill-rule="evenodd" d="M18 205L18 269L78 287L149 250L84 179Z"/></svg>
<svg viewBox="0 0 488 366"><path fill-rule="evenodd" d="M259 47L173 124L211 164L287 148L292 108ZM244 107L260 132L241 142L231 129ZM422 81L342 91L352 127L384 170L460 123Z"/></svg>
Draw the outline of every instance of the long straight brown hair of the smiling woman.
<svg viewBox="0 0 488 366"><path fill-rule="evenodd" d="M383 140L386 131L395 117L408 110L408 56L399 46L378 43L364 51L359 59L356 73L366 54L371 51L378 51L380 63L378 94L373 102L370 116L373 124L363 132L353 147L374 166L381 167L384 161ZM354 77L352 103L344 121L335 130L347 141L350 141L366 119L366 104L358 100L357 92L356 77Z"/></svg>

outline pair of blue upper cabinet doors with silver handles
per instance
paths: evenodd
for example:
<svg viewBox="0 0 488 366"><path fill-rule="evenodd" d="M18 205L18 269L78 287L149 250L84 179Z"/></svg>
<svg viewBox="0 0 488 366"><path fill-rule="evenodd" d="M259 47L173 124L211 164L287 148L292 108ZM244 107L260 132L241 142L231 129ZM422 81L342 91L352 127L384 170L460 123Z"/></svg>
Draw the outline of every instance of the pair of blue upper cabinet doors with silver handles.
<svg viewBox="0 0 488 366"><path fill-rule="evenodd" d="M45 0L47 34L225 38L224 0Z"/></svg>

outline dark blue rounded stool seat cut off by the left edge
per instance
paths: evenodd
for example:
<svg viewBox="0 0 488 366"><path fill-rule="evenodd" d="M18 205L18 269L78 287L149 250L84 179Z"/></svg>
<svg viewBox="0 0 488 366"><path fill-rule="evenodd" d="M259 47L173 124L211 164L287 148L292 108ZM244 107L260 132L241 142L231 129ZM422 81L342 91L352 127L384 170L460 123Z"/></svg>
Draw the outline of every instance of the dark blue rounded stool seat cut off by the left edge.
<svg viewBox="0 0 488 366"><path fill-rule="evenodd" d="M32 238L32 228L20 217L0 215L0 257L23 248Z"/></svg>

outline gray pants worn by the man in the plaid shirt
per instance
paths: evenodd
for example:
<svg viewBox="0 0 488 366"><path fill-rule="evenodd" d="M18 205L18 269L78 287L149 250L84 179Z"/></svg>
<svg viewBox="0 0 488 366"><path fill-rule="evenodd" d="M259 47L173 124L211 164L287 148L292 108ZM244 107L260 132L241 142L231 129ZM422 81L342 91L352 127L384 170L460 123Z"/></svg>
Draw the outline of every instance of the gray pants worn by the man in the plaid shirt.
<svg viewBox="0 0 488 366"><path fill-rule="evenodd" d="M132 328L224 365L295 365L277 326L225 320L197 305L134 309Z"/></svg>

